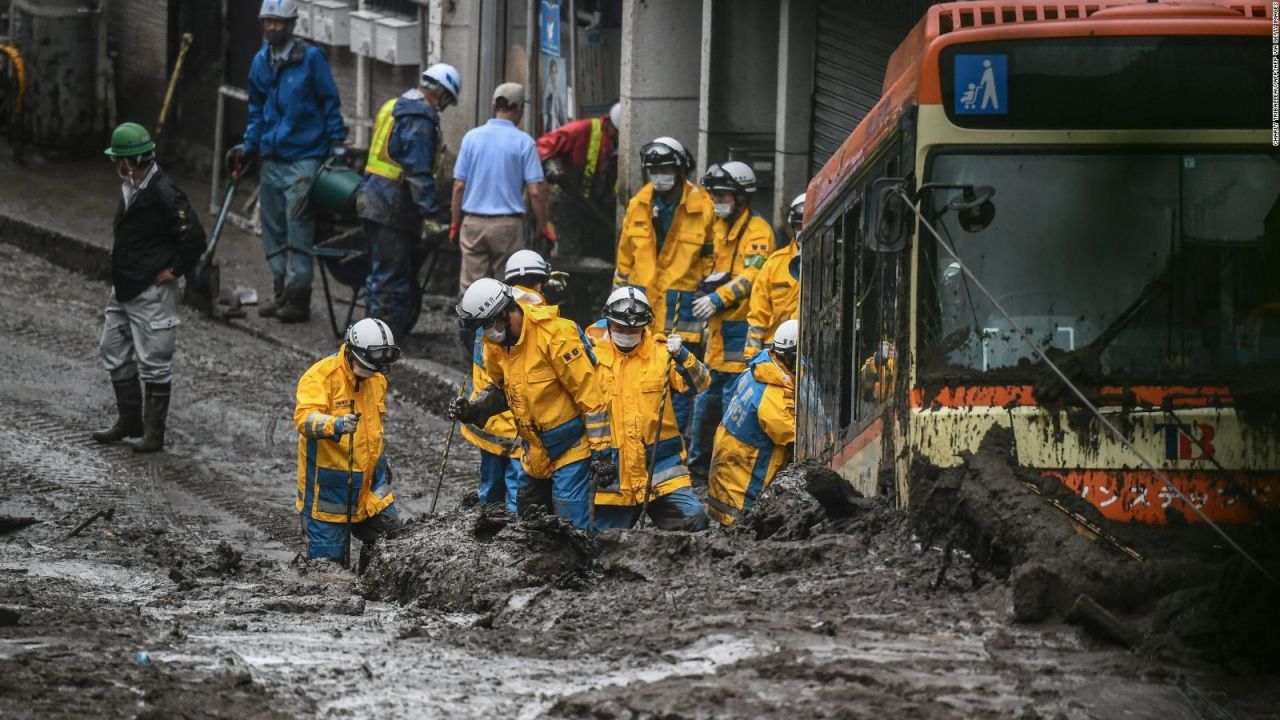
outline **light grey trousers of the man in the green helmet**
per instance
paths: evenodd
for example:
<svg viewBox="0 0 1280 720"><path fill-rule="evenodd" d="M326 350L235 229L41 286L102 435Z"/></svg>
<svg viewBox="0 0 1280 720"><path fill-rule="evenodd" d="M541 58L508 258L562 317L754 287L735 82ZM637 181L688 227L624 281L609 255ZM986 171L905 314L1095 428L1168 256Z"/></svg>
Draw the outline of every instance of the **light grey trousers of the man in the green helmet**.
<svg viewBox="0 0 1280 720"><path fill-rule="evenodd" d="M151 286L142 295L119 302L115 291L106 301L102 324L102 365L111 382L142 375L145 383L173 379L173 350L178 338L178 283Z"/></svg>

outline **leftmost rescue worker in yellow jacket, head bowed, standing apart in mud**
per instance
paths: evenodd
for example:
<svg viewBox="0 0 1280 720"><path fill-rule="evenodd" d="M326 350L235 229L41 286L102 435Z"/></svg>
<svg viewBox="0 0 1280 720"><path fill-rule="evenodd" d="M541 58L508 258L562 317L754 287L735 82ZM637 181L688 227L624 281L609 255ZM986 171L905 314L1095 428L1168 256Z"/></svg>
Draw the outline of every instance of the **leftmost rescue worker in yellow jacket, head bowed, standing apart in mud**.
<svg viewBox="0 0 1280 720"><path fill-rule="evenodd" d="M399 523L383 447L384 373L399 357L387 323L366 318L347 329L337 355L298 380L298 497L307 557L346 560L351 536L369 551Z"/></svg>

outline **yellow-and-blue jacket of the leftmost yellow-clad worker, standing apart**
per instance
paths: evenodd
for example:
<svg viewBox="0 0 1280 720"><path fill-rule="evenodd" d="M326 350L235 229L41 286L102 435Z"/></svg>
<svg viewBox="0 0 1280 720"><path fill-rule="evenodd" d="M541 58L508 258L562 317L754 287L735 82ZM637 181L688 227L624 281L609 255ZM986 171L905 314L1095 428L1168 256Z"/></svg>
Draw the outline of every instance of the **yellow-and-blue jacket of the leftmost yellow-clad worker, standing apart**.
<svg viewBox="0 0 1280 720"><path fill-rule="evenodd" d="M387 378L360 380L347 365L347 346L338 348L298 380L293 424L298 429L298 497L303 516L325 523L347 521L347 474L352 479L351 521L381 512L394 501L383 452ZM338 436L338 418L360 415L355 434ZM353 443L353 445L352 445ZM349 454L349 455L348 455ZM349 461L349 465L348 465Z"/></svg>

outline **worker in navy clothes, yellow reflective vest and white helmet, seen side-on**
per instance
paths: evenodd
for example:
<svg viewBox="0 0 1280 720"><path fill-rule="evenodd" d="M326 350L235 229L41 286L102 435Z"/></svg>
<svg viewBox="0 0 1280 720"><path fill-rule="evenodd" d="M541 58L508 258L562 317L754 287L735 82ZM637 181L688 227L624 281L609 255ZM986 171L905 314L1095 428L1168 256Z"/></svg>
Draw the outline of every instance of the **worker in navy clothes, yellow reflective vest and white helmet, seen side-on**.
<svg viewBox="0 0 1280 720"><path fill-rule="evenodd" d="M426 243L444 242L449 233L435 186L439 113L461 92L458 70L436 63L422 72L420 87L383 102L374 123L356 209L369 241L369 316L385 322L396 337L408 334L408 319L422 302L417 273Z"/></svg>

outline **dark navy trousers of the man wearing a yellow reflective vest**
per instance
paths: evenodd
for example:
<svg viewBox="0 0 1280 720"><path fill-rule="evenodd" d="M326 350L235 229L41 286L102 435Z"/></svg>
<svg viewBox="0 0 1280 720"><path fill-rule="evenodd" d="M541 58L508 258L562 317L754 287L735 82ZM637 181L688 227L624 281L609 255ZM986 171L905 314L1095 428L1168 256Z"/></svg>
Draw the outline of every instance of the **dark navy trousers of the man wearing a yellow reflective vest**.
<svg viewBox="0 0 1280 720"><path fill-rule="evenodd" d="M413 328L408 323L417 316L422 291L417 273L426 260L419 238L408 231L362 220L365 240L369 241L369 277L365 291L369 295L370 318L387 323L392 334L401 338Z"/></svg>

